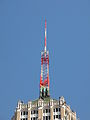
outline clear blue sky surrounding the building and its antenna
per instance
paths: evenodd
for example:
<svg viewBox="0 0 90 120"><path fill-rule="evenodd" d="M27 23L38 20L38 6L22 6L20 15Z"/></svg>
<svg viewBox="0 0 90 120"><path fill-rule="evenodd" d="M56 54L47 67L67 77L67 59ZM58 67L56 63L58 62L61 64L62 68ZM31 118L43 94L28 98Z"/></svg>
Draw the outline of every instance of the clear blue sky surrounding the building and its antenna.
<svg viewBox="0 0 90 120"><path fill-rule="evenodd" d="M90 1L0 0L0 120L39 96L45 18L51 97L90 119Z"/></svg>

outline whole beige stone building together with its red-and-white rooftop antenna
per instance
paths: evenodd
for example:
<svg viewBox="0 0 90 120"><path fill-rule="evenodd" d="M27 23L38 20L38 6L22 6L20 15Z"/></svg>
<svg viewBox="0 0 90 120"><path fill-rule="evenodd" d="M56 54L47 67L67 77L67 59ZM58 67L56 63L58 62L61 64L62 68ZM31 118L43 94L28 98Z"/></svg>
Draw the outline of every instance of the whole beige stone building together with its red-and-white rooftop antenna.
<svg viewBox="0 0 90 120"><path fill-rule="evenodd" d="M49 51L45 47L41 52L40 94L34 101L27 104L18 101L12 120L76 120L76 112L66 104L64 97L58 100L50 97L49 92Z"/></svg>

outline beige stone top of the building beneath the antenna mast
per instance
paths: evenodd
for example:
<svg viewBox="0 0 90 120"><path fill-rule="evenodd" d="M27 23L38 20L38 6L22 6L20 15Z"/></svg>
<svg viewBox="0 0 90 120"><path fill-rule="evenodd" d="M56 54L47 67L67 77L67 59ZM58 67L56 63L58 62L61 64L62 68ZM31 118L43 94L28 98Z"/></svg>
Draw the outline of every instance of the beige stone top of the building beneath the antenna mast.
<svg viewBox="0 0 90 120"><path fill-rule="evenodd" d="M76 112L66 104L64 97L37 99L27 104L19 101L12 120L76 120Z"/></svg>

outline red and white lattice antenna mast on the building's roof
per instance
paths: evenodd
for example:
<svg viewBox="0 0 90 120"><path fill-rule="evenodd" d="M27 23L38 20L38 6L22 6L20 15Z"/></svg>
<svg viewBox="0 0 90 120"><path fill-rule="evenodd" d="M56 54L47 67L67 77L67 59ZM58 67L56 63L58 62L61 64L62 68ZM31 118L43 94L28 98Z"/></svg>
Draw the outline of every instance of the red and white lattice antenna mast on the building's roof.
<svg viewBox="0 0 90 120"><path fill-rule="evenodd" d="M46 50L46 20L45 20L45 48L41 52L40 97L49 97L49 51Z"/></svg>

